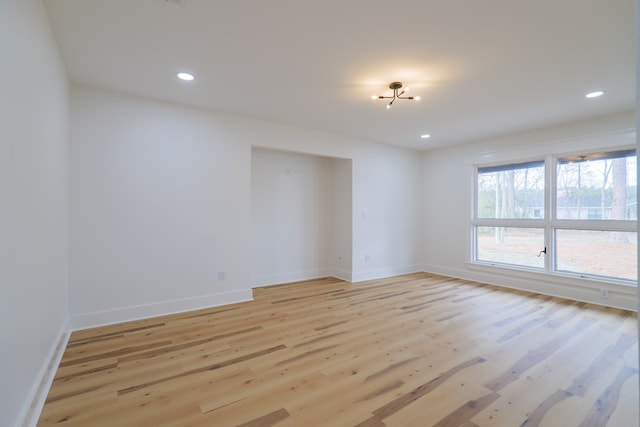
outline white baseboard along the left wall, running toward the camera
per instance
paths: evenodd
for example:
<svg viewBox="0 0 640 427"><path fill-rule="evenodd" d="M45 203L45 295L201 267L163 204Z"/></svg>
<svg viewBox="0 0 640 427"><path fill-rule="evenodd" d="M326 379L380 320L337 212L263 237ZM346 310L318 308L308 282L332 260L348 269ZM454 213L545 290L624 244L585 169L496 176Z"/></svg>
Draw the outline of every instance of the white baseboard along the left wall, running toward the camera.
<svg viewBox="0 0 640 427"><path fill-rule="evenodd" d="M35 427L38 423L38 418L40 418L40 413L44 407L44 402L49 394L49 389L53 383L70 335L68 322L65 322L45 358L45 363L40 368L37 381L33 384L29 397L22 407L22 411L18 417L18 425Z"/></svg>

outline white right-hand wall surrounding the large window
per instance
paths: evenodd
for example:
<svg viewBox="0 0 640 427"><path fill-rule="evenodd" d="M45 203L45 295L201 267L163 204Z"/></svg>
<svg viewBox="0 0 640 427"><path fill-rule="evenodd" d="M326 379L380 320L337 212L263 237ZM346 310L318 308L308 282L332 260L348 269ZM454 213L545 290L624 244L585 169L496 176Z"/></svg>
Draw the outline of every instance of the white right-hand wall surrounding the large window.
<svg viewBox="0 0 640 427"><path fill-rule="evenodd" d="M635 144L634 113L620 113L534 132L478 141L423 154L424 269L440 274L602 303L598 289L607 287L607 304L635 309L633 286L560 280L469 265L474 165L528 160L546 154ZM495 269L494 269L495 271Z"/></svg>

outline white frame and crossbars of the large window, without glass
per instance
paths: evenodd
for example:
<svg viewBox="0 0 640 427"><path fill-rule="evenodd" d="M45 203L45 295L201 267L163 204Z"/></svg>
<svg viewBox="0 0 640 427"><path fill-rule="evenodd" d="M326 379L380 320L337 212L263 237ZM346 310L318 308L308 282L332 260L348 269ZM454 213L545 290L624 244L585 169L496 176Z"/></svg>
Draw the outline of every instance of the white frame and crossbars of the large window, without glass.
<svg viewBox="0 0 640 427"><path fill-rule="evenodd" d="M620 232L633 232L638 233L638 220L637 219L624 219L624 220L612 220L612 219L558 219L557 218L557 173L558 163L560 159L570 156L581 156L591 154L610 154L615 152L634 151L633 146L624 146L612 149L590 149L586 152L572 152L566 155L545 155L532 157L528 159L516 159L506 160L499 163L492 164L475 164L473 166L473 192L472 192L472 207L471 207L471 226L470 226L470 243L471 243L471 265L491 267L491 268L503 268L509 270L517 270L523 272L534 273L546 273L553 276L562 276L568 278L588 279L594 281L601 281L607 283L618 283L624 285L637 286L637 280L628 280L624 278L618 278L613 276L598 276L589 273L579 273L558 270L557 268L557 242L556 242L556 230L586 230L586 231L620 231ZM636 165L637 165L637 152ZM478 218L478 202L479 202L479 186L478 175L482 169L500 170L509 166L524 165L528 163L542 162L544 165L544 217L543 218ZM637 166L636 166L637 171ZM637 172L636 172L637 173ZM518 264L501 263L494 261L482 261L478 259L478 227L516 227L516 228L536 228L544 230L544 242L546 248L546 255L544 256L544 268L528 267ZM540 248L541 250L544 248ZM638 267L636 266L636 269Z"/></svg>

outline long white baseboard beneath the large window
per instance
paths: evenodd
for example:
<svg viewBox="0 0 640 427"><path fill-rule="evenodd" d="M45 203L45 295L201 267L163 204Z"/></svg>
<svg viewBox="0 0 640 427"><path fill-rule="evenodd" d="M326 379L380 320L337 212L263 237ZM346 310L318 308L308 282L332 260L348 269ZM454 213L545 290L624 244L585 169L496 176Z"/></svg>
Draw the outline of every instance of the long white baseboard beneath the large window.
<svg viewBox="0 0 640 427"><path fill-rule="evenodd" d="M496 272L496 267L475 264L469 266L469 269L454 269L425 264L423 271L505 288L567 298L574 301L638 311L637 288L631 285L537 272L524 272L508 268L499 268L499 272ZM607 298L601 297L600 290L602 289L608 291Z"/></svg>

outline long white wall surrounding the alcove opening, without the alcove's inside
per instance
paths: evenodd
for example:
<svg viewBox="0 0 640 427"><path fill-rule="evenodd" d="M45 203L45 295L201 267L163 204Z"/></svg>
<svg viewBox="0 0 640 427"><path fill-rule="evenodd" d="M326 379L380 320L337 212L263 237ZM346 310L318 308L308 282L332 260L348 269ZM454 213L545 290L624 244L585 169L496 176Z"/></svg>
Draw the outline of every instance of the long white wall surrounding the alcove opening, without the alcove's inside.
<svg viewBox="0 0 640 427"><path fill-rule="evenodd" d="M354 277L418 268L419 153L74 85L74 327L250 298L252 146L353 159Z"/></svg>

